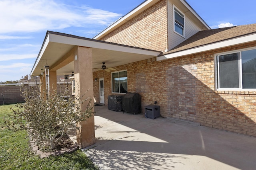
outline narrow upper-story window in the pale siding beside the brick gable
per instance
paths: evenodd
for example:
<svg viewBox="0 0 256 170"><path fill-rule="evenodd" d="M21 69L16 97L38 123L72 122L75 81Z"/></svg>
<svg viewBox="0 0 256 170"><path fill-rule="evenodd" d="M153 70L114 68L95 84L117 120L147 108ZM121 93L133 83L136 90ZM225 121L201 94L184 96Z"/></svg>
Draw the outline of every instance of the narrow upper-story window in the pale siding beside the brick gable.
<svg viewBox="0 0 256 170"><path fill-rule="evenodd" d="M174 32L180 34L185 37L185 22L184 22L184 14L180 12L175 6L173 7L174 14Z"/></svg>

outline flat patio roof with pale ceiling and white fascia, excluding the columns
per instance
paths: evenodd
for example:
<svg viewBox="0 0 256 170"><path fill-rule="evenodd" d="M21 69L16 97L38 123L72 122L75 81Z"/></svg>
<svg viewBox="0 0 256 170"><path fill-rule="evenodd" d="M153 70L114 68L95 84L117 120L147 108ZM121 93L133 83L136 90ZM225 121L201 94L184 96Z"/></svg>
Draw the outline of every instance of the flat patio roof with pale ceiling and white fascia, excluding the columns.
<svg viewBox="0 0 256 170"><path fill-rule="evenodd" d="M107 67L116 67L136 61L150 59L161 54L160 51L142 49L109 43L95 39L78 37L74 35L47 31L40 53L32 68L31 74L40 75L41 69L47 64L51 66L62 59L76 46L92 48L92 67L100 68L102 62ZM57 70L58 75L72 74L74 61Z"/></svg>

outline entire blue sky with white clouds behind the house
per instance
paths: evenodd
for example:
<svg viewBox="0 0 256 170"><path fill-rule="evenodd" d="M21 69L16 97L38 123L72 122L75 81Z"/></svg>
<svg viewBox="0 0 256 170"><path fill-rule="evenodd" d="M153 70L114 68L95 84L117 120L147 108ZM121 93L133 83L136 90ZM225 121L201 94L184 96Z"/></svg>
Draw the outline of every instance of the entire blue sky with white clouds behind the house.
<svg viewBox="0 0 256 170"><path fill-rule="evenodd" d="M255 0L186 0L211 27L256 23ZM30 74L46 31L92 38L144 0L0 0L0 82Z"/></svg>

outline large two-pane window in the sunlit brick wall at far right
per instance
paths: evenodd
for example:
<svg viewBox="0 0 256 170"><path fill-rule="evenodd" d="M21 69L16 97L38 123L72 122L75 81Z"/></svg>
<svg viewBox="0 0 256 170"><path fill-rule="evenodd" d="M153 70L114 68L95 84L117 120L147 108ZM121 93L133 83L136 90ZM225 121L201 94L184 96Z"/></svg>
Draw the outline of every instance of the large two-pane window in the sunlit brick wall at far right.
<svg viewBox="0 0 256 170"><path fill-rule="evenodd" d="M256 89L256 49L216 55L218 89Z"/></svg>

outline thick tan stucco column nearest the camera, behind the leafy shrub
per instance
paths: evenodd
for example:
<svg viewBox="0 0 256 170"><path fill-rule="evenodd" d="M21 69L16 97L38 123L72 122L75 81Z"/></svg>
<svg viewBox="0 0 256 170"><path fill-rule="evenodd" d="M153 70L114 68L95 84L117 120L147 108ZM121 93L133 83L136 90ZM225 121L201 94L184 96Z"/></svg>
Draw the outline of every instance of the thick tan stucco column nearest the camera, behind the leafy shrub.
<svg viewBox="0 0 256 170"><path fill-rule="evenodd" d="M74 54L74 74L76 96L82 99L92 99L93 104L93 77L92 77L92 49L77 47ZM79 94L78 94L79 93ZM89 100L80 104L81 111L87 108ZM94 111L94 109L93 109ZM76 140L80 148L85 148L95 143L94 115L78 125Z"/></svg>

